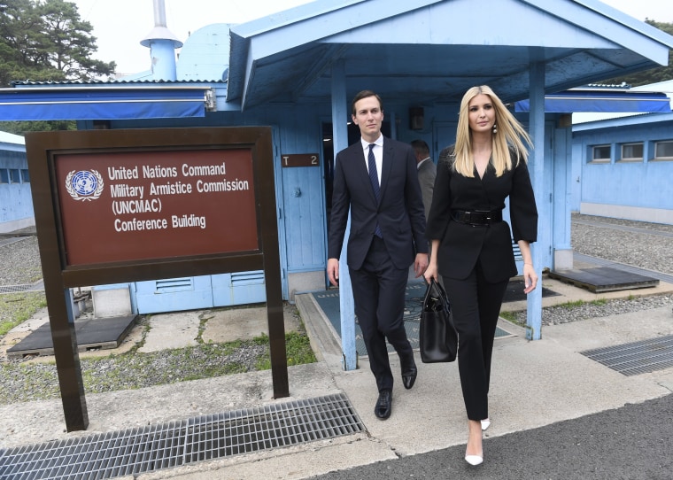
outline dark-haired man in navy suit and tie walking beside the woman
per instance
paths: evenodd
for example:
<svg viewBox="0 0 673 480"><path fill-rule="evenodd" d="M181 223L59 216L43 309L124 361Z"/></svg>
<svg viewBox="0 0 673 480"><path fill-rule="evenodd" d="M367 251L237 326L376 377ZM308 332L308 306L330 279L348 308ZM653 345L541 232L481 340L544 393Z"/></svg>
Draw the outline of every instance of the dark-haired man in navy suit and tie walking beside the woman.
<svg viewBox="0 0 673 480"><path fill-rule="evenodd" d="M393 384L386 339L398 352L405 388L416 380L403 318L406 278L412 263L416 277L428 267L428 241L414 150L381 134L381 98L361 91L352 101L352 121L362 137L336 155L327 272L338 286L350 208L347 263L355 314L379 391L375 415L385 420Z"/></svg>

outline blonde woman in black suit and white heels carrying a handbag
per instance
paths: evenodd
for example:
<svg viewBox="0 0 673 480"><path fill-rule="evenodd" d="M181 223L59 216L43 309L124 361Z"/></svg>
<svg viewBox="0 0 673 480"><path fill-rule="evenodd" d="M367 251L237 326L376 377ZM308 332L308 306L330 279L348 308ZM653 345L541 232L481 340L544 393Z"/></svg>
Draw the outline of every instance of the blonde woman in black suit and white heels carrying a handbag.
<svg viewBox="0 0 673 480"><path fill-rule="evenodd" d="M425 279L442 275L458 331L460 385L468 413L465 460L483 461L490 425L488 391L496 324L509 278L517 274L512 237L523 257L525 293L538 275L530 244L538 236L528 161L530 136L487 86L460 103L456 143L440 153L426 235L432 245ZM502 220L509 197L512 230Z"/></svg>

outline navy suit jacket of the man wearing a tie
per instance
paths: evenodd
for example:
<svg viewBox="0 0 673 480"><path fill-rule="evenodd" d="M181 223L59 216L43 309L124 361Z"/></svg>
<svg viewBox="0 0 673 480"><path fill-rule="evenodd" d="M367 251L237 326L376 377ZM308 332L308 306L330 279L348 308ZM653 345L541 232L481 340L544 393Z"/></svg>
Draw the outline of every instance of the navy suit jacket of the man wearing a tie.
<svg viewBox="0 0 673 480"><path fill-rule="evenodd" d="M328 257L339 258L349 207L351 233L347 262L359 269L374 238L376 222L396 268L408 268L416 253L427 253L425 216L414 149L407 143L383 138L381 193L378 203L367 173L362 143L336 155Z"/></svg>

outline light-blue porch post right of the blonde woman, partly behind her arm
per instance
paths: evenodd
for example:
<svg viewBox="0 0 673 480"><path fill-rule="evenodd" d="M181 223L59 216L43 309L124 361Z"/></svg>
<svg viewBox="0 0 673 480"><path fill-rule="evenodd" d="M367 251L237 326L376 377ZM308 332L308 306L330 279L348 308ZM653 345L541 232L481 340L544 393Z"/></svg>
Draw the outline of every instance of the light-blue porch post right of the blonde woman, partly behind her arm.
<svg viewBox="0 0 673 480"><path fill-rule="evenodd" d="M530 64L530 125L529 134L533 141L530 152L530 181L535 191L535 202L538 205L539 228L547 228L545 219L549 216L549 202L544 197L545 181L545 64L532 62ZM542 252L549 248L544 239L547 236L538 231L538 238L531 246L533 265L538 273L538 288L528 294L526 312L526 338L539 340L542 338Z"/></svg>

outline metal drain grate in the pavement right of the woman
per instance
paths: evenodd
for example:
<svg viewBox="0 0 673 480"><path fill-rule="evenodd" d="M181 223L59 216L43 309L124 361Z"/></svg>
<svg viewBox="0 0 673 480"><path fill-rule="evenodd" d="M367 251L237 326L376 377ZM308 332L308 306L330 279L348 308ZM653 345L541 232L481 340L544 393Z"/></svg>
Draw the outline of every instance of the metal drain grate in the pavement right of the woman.
<svg viewBox="0 0 673 480"><path fill-rule="evenodd" d="M630 376L673 367L673 336L580 352L592 360Z"/></svg>

